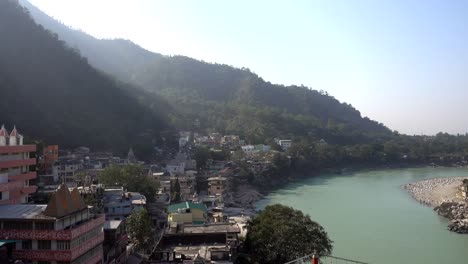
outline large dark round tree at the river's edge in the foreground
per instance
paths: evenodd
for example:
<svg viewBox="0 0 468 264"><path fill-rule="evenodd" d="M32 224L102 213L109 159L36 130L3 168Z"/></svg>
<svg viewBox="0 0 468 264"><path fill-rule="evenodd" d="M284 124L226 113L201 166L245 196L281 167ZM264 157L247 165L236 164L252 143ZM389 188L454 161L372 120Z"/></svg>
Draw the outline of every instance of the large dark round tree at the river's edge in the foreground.
<svg viewBox="0 0 468 264"><path fill-rule="evenodd" d="M275 204L249 223L245 247L257 263L285 263L313 253L329 255L332 243L309 215Z"/></svg>

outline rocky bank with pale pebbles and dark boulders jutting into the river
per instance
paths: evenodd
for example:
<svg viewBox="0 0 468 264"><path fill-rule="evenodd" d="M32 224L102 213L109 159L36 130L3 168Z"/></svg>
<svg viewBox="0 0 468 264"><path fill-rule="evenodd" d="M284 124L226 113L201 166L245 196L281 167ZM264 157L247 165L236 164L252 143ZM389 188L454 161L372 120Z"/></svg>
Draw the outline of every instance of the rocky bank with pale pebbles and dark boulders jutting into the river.
<svg viewBox="0 0 468 264"><path fill-rule="evenodd" d="M468 177L430 179L405 184L403 188L417 201L448 218L450 231L468 234L468 204L457 195L463 179Z"/></svg>

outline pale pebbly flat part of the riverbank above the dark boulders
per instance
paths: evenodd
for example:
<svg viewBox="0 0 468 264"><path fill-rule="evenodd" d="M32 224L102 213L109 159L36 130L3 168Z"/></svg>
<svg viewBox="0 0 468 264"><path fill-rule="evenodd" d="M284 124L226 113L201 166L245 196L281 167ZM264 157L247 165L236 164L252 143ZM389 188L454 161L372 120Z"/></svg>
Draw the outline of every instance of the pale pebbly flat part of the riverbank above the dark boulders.
<svg viewBox="0 0 468 264"><path fill-rule="evenodd" d="M457 197L456 192L463 179L468 179L468 177L435 178L405 184L402 187L420 203L436 207L443 202L462 201Z"/></svg>

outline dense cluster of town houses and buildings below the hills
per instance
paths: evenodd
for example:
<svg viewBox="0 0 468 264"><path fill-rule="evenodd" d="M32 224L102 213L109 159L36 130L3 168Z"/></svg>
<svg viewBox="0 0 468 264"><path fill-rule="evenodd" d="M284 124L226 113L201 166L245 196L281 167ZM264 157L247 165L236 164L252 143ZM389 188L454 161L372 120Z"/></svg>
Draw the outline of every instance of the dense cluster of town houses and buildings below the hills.
<svg viewBox="0 0 468 264"><path fill-rule="evenodd" d="M291 140L277 140L281 149ZM0 262L126 263L131 244L126 219L145 208L152 218L157 244L149 263L233 263L241 226L226 214L225 197L236 177L236 164L208 160L197 168L194 146L238 151L256 171L268 162L259 153L271 146L249 145L236 135L181 132L179 151L161 164L145 165L130 149L127 157L80 147L59 150L23 145L16 128L0 129ZM99 173L109 166L142 165L159 186L154 202L122 186L103 186ZM45 204L31 204L34 193L47 194ZM98 199L90 207L85 200ZM153 198L153 197L152 197ZM153 199L151 199L153 200ZM2 207L3 206L3 207ZM49 230L49 231L45 231ZM47 234L45 234L47 233Z"/></svg>

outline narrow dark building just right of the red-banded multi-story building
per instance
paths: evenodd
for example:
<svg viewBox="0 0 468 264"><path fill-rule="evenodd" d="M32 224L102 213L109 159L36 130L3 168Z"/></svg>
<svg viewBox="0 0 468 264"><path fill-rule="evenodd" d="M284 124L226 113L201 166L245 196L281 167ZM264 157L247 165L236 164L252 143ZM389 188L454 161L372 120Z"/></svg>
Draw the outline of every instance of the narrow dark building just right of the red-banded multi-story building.
<svg viewBox="0 0 468 264"><path fill-rule="evenodd" d="M108 220L104 223L104 263L127 263L128 235L124 220Z"/></svg>

